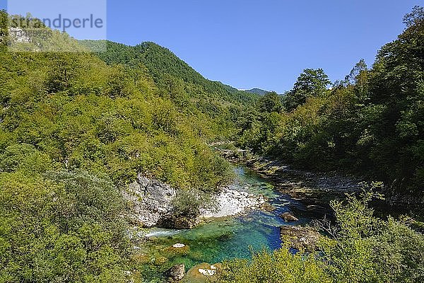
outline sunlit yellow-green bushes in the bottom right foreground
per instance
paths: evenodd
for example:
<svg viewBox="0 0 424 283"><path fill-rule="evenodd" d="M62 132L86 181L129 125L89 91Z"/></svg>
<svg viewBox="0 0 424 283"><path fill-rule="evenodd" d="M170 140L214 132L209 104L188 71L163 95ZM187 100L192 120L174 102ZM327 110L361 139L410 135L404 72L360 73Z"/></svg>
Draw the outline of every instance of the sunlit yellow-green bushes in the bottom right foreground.
<svg viewBox="0 0 424 283"><path fill-rule="evenodd" d="M423 282L424 236L389 217L373 216L372 192L332 201L336 221L317 222L328 236L317 240L319 253L290 250L290 240L252 261L225 262L217 282Z"/></svg>

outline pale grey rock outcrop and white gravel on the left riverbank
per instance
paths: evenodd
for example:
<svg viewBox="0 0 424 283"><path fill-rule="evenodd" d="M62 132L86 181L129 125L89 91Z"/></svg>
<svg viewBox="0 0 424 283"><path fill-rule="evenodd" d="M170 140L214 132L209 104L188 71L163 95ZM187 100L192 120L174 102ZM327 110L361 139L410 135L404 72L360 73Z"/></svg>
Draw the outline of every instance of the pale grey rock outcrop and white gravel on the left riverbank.
<svg viewBox="0 0 424 283"><path fill-rule="evenodd" d="M178 190L141 174L122 194L129 204L129 213L126 216L129 216L135 225L143 228L158 226L191 229L204 219L237 216L249 209L259 209L266 204L262 196L224 187L212 196L216 205L201 208L199 216L195 219L180 219L172 215L172 201L177 197Z"/></svg>

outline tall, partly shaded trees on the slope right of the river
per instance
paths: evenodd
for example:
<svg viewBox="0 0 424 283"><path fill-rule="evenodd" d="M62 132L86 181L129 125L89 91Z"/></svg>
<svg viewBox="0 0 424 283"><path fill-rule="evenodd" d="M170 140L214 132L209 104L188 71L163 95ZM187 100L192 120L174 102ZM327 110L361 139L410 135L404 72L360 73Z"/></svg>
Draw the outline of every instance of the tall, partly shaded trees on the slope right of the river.
<svg viewBox="0 0 424 283"><path fill-rule="evenodd" d="M305 69L279 107L264 107L240 123L239 144L298 166L344 169L383 180L387 193L424 197L424 17L416 7L404 33L361 60L327 88L322 69ZM408 200L410 201L410 200Z"/></svg>

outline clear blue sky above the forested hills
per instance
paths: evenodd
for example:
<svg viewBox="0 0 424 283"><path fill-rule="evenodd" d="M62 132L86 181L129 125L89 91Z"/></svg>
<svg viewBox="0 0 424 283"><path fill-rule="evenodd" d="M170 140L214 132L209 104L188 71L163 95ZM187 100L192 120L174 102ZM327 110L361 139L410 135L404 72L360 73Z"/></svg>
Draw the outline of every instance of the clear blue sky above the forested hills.
<svg viewBox="0 0 424 283"><path fill-rule="evenodd" d="M404 29L404 14L424 1L108 0L107 4L109 40L129 45L157 42L208 79L282 93L305 68L322 68L335 81L361 58L372 64L379 47Z"/></svg>

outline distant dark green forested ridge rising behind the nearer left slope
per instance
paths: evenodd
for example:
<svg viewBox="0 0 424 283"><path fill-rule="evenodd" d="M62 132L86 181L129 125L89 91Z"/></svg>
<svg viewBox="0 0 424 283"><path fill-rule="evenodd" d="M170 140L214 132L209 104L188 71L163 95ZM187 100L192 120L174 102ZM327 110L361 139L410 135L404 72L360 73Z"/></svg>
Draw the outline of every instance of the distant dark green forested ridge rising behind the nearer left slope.
<svg viewBox="0 0 424 283"><path fill-rule="evenodd" d="M146 68L161 93L177 105L192 103L192 107L223 121L237 121L240 113L249 108L258 96L237 91L218 81L209 81L165 47L153 42L136 46L116 42L83 40L81 44L92 50L106 44L107 50L98 57L110 65L122 64L133 71Z"/></svg>

